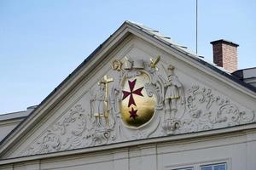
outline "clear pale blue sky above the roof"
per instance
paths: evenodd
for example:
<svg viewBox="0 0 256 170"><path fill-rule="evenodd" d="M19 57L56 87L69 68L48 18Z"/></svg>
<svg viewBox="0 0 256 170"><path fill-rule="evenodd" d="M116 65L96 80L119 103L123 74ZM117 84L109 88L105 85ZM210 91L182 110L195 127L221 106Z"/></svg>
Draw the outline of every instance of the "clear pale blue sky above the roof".
<svg viewBox="0 0 256 170"><path fill-rule="evenodd" d="M256 1L198 0L198 52L240 44L239 68L256 66ZM195 0L0 0L0 113L38 105L125 20L195 50Z"/></svg>

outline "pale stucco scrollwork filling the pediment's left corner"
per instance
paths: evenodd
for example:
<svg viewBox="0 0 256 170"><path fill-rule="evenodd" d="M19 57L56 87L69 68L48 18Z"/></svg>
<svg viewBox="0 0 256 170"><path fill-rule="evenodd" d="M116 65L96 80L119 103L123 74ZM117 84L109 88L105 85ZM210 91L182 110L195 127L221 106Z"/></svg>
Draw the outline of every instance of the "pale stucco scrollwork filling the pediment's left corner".
<svg viewBox="0 0 256 170"><path fill-rule="evenodd" d="M36 155L58 150L71 150L83 145L82 133L86 128L86 115L81 105L75 105L59 120L47 128L20 156Z"/></svg>

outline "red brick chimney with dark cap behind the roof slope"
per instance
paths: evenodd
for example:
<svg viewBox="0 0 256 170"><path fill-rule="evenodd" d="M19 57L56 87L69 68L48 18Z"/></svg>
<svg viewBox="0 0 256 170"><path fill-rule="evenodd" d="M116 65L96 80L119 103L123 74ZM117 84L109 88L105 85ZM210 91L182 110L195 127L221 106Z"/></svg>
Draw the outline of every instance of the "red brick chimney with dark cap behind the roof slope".
<svg viewBox="0 0 256 170"><path fill-rule="evenodd" d="M229 72L237 70L237 47L238 44L224 39L212 43L213 62Z"/></svg>

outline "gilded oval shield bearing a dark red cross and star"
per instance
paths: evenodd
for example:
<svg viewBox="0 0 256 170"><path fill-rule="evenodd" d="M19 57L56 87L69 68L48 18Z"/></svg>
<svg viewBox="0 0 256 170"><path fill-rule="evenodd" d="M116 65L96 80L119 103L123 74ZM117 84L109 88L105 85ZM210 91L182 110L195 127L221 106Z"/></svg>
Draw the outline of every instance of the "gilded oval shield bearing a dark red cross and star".
<svg viewBox="0 0 256 170"><path fill-rule="evenodd" d="M148 75L140 75L123 80L123 97L120 103L121 115L125 125L131 128L142 127L154 116L154 95L148 96L145 83L149 82Z"/></svg>

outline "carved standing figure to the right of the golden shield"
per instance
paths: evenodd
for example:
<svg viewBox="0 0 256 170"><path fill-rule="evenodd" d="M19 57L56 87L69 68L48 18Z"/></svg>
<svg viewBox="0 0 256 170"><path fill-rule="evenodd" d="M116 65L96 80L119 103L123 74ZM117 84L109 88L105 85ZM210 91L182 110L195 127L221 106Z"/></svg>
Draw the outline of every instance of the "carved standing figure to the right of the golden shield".
<svg viewBox="0 0 256 170"><path fill-rule="evenodd" d="M166 93L165 93L165 106L166 112L171 113L177 111L177 99L182 96L182 83L179 82L177 76L174 75L174 66L169 65L166 71L167 80L165 82Z"/></svg>

